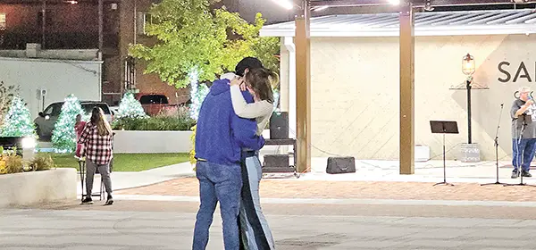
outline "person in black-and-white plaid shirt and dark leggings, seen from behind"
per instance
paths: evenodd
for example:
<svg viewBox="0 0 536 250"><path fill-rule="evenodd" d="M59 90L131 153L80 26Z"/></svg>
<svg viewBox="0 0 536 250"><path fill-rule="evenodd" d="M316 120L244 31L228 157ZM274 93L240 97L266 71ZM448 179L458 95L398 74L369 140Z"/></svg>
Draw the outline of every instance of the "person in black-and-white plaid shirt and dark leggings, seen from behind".
<svg viewBox="0 0 536 250"><path fill-rule="evenodd" d="M113 204L112 179L110 179L110 162L112 152L113 131L105 119L105 113L99 107L93 108L91 120L80 135L79 143L83 145L83 154L86 156L86 191L88 196L82 200L82 204L93 204L91 189L93 188L93 176L96 169L100 172L105 182L108 197L105 204Z"/></svg>

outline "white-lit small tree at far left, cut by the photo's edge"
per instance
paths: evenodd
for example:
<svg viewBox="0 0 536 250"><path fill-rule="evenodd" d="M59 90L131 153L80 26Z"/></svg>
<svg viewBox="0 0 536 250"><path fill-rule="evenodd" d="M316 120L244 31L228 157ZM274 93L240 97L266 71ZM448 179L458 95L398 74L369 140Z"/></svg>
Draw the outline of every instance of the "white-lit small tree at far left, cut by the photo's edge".
<svg viewBox="0 0 536 250"><path fill-rule="evenodd" d="M13 98L9 112L5 115L2 125L3 137L36 136L35 126L26 104L19 96Z"/></svg>

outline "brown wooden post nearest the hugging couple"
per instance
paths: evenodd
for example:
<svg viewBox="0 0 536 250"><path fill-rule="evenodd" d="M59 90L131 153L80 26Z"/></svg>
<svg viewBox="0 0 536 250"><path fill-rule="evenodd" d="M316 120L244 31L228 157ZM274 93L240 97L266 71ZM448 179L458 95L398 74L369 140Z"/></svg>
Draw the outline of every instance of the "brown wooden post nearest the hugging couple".
<svg viewBox="0 0 536 250"><path fill-rule="evenodd" d="M296 134L297 171L311 171L311 36L310 9L296 17Z"/></svg>

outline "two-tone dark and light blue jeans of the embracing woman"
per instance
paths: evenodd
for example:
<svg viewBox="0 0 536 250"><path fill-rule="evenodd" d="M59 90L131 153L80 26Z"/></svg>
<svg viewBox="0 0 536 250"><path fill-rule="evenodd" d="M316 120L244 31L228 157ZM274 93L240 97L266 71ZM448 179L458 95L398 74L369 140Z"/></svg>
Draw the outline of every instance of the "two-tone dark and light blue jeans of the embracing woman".
<svg viewBox="0 0 536 250"><path fill-rule="evenodd" d="M264 218L259 196L263 178L261 162L255 152L242 153L242 199L240 204L240 237L245 250L275 249L272 230Z"/></svg>

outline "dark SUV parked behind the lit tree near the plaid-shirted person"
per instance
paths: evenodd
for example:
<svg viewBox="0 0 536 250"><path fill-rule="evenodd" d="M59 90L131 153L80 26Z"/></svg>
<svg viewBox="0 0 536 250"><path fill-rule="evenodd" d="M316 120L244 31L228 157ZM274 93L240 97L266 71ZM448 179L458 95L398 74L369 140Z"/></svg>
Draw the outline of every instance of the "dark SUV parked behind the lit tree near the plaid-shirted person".
<svg viewBox="0 0 536 250"><path fill-rule="evenodd" d="M63 103L64 102L57 102L49 104L45 111L39 112L38 117L34 120L34 123L36 124L36 132L39 138L52 137L52 131L54 130L55 122L58 120L60 113L62 112ZM88 115L91 114L91 110L93 110L94 107L99 107L103 110L103 112L105 112L106 120L108 122L113 121L113 112L106 103L97 101L80 101L80 105L82 106L82 110Z"/></svg>

